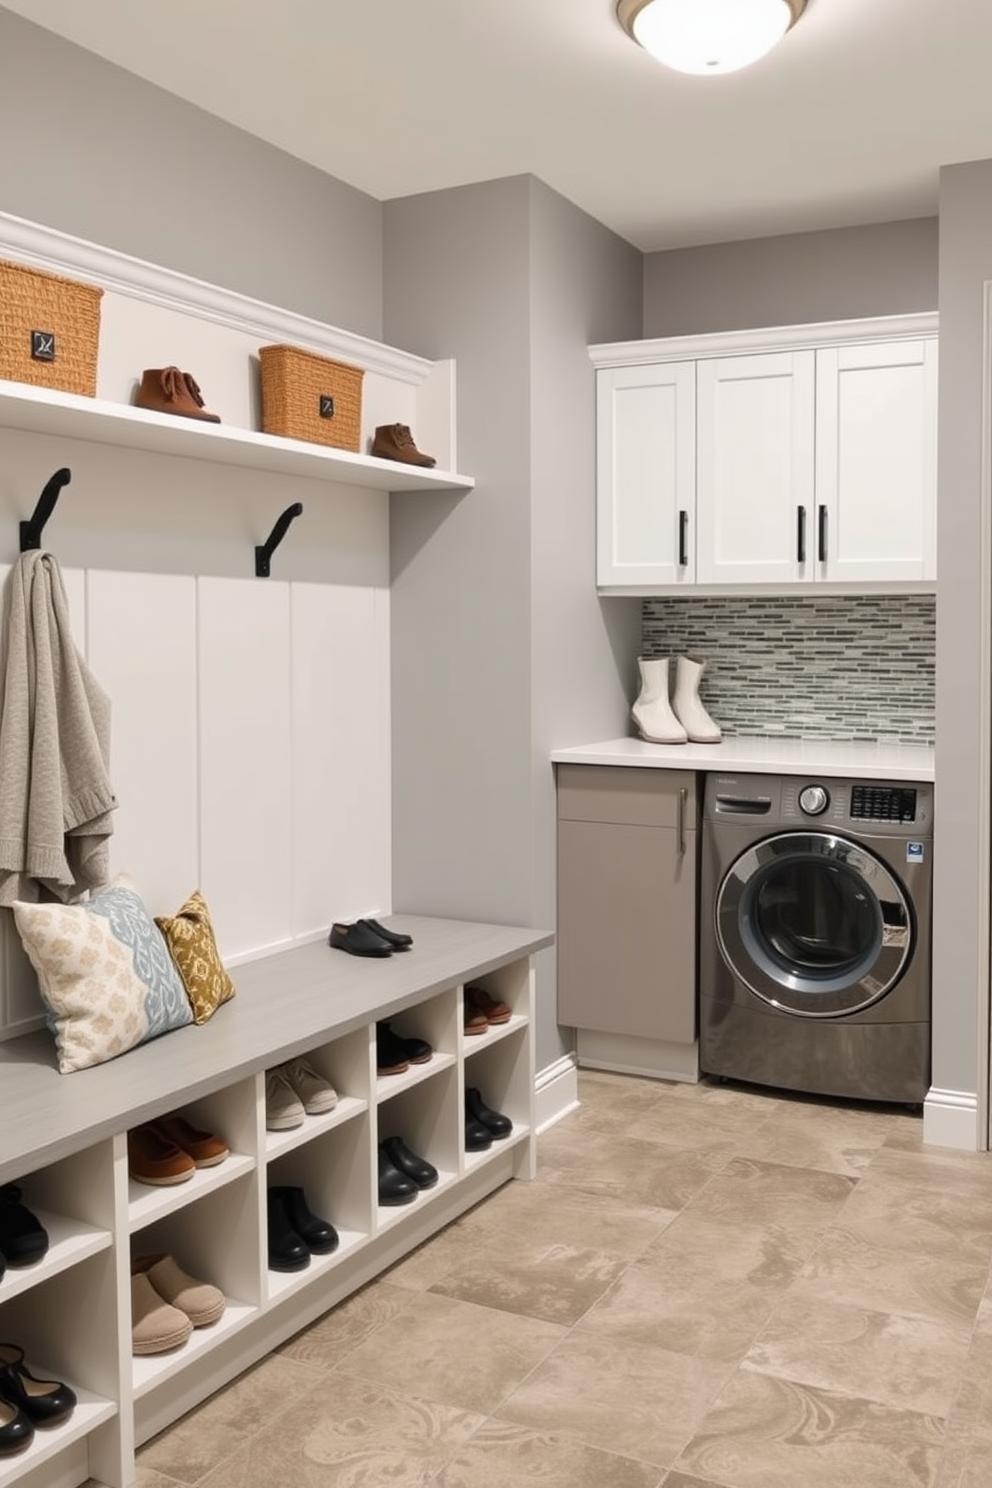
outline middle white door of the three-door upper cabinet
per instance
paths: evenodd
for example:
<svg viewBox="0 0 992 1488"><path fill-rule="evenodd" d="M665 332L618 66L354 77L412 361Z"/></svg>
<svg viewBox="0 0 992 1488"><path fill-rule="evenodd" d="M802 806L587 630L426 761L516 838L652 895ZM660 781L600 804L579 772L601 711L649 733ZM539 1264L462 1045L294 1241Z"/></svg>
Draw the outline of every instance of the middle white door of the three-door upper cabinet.
<svg viewBox="0 0 992 1488"><path fill-rule="evenodd" d="M700 362L698 399L698 582L803 579L815 551L814 353Z"/></svg>

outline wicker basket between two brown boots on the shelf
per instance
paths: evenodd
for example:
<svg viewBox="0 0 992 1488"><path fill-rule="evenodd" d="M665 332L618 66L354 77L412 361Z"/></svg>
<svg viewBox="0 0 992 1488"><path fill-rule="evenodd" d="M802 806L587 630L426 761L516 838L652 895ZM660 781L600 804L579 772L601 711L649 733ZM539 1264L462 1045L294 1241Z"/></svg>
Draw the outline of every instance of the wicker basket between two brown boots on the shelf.
<svg viewBox="0 0 992 1488"><path fill-rule="evenodd" d="M361 368L296 347L260 347L262 429L338 449L361 440Z"/></svg>

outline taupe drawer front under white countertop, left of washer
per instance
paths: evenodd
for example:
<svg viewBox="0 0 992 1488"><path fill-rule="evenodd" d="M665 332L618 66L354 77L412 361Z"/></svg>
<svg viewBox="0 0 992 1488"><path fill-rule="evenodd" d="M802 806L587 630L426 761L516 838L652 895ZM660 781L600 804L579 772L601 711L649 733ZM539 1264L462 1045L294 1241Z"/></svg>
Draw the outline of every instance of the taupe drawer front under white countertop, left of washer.
<svg viewBox="0 0 992 1488"><path fill-rule="evenodd" d="M644 769L623 765L559 765L558 815L570 821L616 821L622 826L674 827L680 792L684 830L696 827L696 774L689 769Z"/></svg>

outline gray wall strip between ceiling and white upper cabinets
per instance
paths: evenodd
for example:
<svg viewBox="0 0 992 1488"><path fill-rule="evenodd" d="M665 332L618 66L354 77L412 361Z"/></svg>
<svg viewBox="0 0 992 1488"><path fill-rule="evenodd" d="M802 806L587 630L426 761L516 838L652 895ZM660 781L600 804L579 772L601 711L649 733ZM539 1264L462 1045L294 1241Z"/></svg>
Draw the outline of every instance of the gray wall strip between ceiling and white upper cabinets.
<svg viewBox="0 0 992 1488"><path fill-rule="evenodd" d="M644 335L937 308L937 219L672 248L644 259Z"/></svg>

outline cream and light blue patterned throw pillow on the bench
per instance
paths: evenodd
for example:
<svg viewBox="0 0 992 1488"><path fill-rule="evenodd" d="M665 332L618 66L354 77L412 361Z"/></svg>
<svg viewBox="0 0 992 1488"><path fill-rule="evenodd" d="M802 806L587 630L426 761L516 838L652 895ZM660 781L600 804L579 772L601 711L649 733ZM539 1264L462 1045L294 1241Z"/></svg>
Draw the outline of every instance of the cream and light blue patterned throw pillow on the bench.
<svg viewBox="0 0 992 1488"><path fill-rule="evenodd" d="M116 878L80 905L16 900L13 921L62 1074L193 1021L165 940L129 879Z"/></svg>

